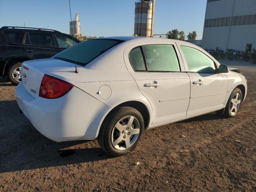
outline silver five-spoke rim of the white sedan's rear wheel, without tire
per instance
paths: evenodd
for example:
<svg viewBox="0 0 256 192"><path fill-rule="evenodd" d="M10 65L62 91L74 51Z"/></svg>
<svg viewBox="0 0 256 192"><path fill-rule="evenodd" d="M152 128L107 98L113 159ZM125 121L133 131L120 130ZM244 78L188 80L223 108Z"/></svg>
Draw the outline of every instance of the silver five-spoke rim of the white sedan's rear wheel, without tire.
<svg viewBox="0 0 256 192"><path fill-rule="evenodd" d="M125 116L112 129L112 145L117 150L126 150L136 142L139 134L139 121L134 116Z"/></svg>

